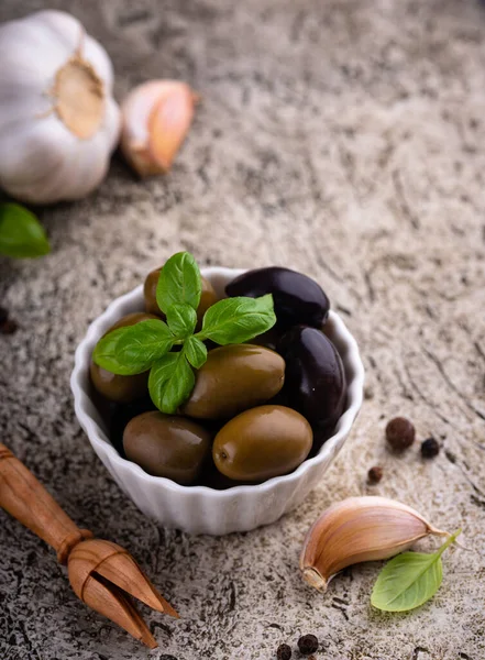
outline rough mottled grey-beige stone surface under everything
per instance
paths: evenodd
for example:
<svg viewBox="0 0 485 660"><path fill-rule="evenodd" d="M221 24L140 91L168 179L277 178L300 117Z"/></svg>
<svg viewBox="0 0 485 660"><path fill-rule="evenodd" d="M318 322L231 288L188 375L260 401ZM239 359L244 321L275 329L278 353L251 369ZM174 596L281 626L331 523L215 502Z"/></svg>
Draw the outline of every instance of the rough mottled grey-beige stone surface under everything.
<svg viewBox="0 0 485 660"><path fill-rule="evenodd" d="M44 6L2 0L0 19ZM156 660L273 658L315 631L332 660L485 658L485 10L475 0L49 2L108 48L117 95L188 80L203 103L166 178L119 157L100 189L42 211L53 254L0 262L21 324L0 337L1 439L82 526L140 559L179 622L147 614ZM68 387L87 323L174 251L285 264L322 283L367 369L359 422L321 486L272 527L228 538L157 528L121 494L76 422ZM410 416L443 450L396 459ZM378 565L326 595L297 573L309 525L373 493L463 527L432 603L373 612ZM2 660L128 660L147 651L76 601L54 553L0 513Z"/></svg>

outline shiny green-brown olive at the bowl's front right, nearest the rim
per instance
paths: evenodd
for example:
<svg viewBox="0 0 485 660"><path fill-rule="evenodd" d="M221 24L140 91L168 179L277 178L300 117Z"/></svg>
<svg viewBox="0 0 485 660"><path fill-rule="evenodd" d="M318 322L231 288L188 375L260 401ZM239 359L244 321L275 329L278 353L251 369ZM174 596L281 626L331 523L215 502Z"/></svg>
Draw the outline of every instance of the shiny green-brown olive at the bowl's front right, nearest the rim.
<svg viewBox="0 0 485 660"><path fill-rule="evenodd" d="M261 482L295 470L310 453L312 441L302 415L285 406L260 406L222 427L212 458L229 479Z"/></svg>

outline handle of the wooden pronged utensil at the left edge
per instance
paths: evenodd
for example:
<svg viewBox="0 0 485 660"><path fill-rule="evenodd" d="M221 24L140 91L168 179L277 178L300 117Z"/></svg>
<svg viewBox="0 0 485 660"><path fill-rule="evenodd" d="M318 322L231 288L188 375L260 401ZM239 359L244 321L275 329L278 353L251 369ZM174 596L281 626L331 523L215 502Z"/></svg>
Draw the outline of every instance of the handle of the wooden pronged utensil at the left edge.
<svg viewBox="0 0 485 660"><path fill-rule="evenodd" d="M67 562L74 546L92 536L86 529L78 529L32 472L1 442L0 506L52 546L60 563Z"/></svg>

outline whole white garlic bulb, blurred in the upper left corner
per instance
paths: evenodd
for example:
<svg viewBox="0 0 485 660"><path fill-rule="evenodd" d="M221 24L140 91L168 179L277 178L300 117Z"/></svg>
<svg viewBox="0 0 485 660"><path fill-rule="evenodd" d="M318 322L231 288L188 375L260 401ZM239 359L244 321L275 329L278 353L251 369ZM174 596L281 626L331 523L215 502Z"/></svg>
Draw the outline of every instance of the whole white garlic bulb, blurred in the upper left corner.
<svg viewBox="0 0 485 660"><path fill-rule="evenodd" d="M104 177L120 131L104 48L74 16L40 11L0 26L0 187L78 199Z"/></svg>

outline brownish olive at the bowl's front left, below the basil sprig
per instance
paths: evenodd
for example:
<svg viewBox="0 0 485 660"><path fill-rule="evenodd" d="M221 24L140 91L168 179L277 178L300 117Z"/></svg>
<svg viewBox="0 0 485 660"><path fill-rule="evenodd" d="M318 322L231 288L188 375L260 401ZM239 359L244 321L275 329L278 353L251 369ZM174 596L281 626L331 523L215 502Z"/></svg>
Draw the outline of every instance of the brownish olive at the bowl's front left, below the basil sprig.
<svg viewBox="0 0 485 660"><path fill-rule="evenodd" d="M129 421L123 449L128 459L148 474L190 485L210 455L211 439L195 421L155 410Z"/></svg>

